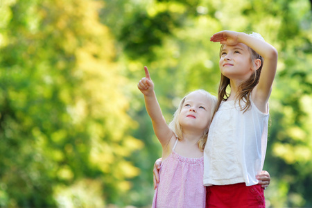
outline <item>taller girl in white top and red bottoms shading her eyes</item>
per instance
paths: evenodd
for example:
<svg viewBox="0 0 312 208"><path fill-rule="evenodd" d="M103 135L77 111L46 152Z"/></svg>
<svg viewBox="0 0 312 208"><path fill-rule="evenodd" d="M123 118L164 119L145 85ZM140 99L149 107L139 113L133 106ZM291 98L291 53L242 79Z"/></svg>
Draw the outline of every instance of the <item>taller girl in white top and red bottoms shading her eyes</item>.
<svg viewBox="0 0 312 208"><path fill-rule="evenodd" d="M256 175L266 155L277 51L257 33L221 31L210 40L222 46L218 104L204 151L207 207L266 207Z"/></svg>

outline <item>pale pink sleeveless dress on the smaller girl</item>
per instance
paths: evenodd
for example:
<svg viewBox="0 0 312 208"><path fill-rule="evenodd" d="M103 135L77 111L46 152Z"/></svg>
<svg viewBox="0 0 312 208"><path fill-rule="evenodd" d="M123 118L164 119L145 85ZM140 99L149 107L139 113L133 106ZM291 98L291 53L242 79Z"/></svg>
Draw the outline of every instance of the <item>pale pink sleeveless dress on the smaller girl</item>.
<svg viewBox="0 0 312 208"><path fill-rule="evenodd" d="M183 157L175 153L175 146L160 166L153 208L205 207L204 157Z"/></svg>

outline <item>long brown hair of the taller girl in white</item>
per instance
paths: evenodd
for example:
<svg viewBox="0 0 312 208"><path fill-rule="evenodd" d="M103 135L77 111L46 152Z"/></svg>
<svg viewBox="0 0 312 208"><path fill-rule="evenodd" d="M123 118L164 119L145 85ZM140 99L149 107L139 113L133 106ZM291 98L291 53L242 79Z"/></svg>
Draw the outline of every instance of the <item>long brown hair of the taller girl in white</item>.
<svg viewBox="0 0 312 208"><path fill-rule="evenodd" d="M222 46L220 47L219 53L220 58L223 46L224 44L222 44ZM254 89L254 87L256 87L256 85L259 83L261 69L263 66L262 56L259 55L256 51L254 51L250 47L248 47L248 49L250 51L250 59L254 67L255 67L254 61L257 59L261 60L261 65L259 69L254 70L254 73L252 73L252 75L250 76L250 78L248 78L248 80L245 80L243 83L241 83L241 85L239 85L239 92L236 95L235 101L237 100L239 101L239 106L241 107L241 110L243 112L248 110L248 108L250 107L250 94L252 92L252 89ZM220 85L218 89L218 102L214 114L216 114L218 108L220 107L220 103L222 101L227 101L227 98L229 98L229 93L227 93L227 87L231 87L229 83L229 78L227 78L221 73ZM241 105L241 101L243 101L244 103L243 105ZM214 117L214 115L212 117Z"/></svg>

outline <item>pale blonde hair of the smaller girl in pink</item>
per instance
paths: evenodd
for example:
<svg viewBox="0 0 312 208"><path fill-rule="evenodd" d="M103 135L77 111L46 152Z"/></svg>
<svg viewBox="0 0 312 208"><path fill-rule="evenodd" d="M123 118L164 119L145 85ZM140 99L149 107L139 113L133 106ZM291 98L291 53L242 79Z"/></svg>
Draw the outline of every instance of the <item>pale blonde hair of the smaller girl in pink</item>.
<svg viewBox="0 0 312 208"><path fill-rule="evenodd" d="M210 125L211 119L212 119L212 114L214 114L216 103L217 103L216 96L211 95L209 92L205 91L204 89L198 89L198 90L195 90L193 92L201 92L202 94L207 96L207 100L211 104L210 105L210 107L211 107L210 118L209 118L210 119L209 125ZM191 94L193 92L188 93L186 96L184 96L184 98L182 98L182 101L180 101L180 104L177 107L177 110L175 111L175 114L173 114L173 120L168 125L169 128L171 128L171 130L173 130L173 132L175 133L175 136L179 140L183 139L183 131L182 131L182 126L180 125L180 122L179 122L179 115L180 115L180 112L181 112L182 107L184 105L185 99L187 98L187 96L189 94ZM206 141L207 141L207 137L208 137L208 131L209 131L209 125L207 126L207 129L203 132L202 137L198 140L198 148L200 148L201 151L204 150L205 145L206 145Z"/></svg>

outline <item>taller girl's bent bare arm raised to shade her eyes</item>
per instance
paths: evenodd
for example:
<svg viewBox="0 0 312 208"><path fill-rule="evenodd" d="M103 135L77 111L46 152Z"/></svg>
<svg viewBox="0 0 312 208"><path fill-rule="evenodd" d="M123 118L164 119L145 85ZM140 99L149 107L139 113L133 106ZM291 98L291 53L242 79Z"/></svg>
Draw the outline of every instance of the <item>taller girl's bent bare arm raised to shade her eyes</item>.
<svg viewBox="0 0 312 208"><path fill-rule="evenodd" d="M277 50L267 42L245 33L234 31L221 31L214 34L210 40L220 44L236 45L243 43L263 57L263 67L259 84L254 88L253 98L256 98L261 105L266 105L272 90L272 83L277 69Z"/></svg>

